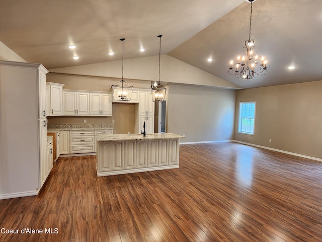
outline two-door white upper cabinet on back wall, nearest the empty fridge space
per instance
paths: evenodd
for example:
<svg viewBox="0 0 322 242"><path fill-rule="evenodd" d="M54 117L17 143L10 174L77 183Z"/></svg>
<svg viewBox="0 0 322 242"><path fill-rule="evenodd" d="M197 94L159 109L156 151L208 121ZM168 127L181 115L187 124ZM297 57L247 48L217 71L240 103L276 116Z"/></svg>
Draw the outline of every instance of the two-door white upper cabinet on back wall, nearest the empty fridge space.
<svg viewBox="0 0 322 242"><path fill-rule="evenodd" d="M111 93L90 93L90 114L111 116L112 98Z"/></svg>

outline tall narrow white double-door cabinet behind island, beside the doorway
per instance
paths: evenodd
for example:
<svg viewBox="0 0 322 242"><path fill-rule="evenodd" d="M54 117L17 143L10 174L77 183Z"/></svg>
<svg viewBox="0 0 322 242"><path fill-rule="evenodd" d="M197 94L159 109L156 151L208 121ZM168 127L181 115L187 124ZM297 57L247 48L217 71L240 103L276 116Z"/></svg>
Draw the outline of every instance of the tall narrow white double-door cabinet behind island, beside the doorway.
<svg viewBox="0 0 322 242"><path fill-rule="evenodd" d="M154 133L154 102L152 101L152 93L150 90L140 90L138 107L138 132L143 131L145 122L145 133Z"/></svg>

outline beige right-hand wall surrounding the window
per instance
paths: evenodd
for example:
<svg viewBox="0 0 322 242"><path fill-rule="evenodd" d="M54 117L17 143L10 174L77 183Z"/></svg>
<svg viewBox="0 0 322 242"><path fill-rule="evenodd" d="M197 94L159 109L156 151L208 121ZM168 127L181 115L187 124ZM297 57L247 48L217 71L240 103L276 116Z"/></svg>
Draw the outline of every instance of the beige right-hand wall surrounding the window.
<svg viewBox="0 0 322 242"><path fill-rule="evenodd" d="M237 90L234 139L322 158L321 90L322 81ZM254 135L237 132L238 105L245 101L256 101Z"/></svg>

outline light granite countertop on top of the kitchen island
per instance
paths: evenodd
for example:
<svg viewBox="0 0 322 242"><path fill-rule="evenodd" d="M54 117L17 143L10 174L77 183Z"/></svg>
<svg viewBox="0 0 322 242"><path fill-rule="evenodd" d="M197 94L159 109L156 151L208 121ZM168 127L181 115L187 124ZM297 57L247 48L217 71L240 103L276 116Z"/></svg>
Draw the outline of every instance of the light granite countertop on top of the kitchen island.
<svg viewBox="0 0 322 242"><path fill-rule="evenodd" d="M109 136L98 136L98 142L100 141L120 141L120 140L165 140L165 139L181 139L184 138L181 135L172 133L154 133L146 134L145 137L141 134L119 134Z"/></svg>

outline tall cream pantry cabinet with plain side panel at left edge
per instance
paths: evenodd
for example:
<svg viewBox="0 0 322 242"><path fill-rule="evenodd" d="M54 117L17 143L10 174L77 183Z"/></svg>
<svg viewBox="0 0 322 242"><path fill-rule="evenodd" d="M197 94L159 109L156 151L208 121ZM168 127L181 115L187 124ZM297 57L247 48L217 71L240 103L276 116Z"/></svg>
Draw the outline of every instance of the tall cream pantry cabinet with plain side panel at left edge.
<svg viewBox="0 0 322 242"><path fill-rule="evenodd" d="M46 73L0 61L0 199L37 195L45 181Z"/></svg>

